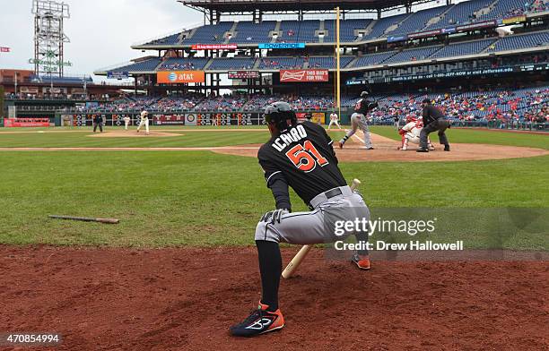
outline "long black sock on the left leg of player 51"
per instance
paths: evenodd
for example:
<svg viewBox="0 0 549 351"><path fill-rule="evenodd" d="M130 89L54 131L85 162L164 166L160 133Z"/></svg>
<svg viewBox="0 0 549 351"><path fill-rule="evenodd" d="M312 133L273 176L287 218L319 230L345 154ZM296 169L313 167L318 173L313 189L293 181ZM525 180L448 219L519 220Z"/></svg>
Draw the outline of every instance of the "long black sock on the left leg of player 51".
<svg viewBox="0 0 549 351"><path fill-rule="evenodd" d="M278 286L282 273L282 256L278 243L256 240L261 287L263 295L261 303L268 304L267 311L278 310Z"/></svg>

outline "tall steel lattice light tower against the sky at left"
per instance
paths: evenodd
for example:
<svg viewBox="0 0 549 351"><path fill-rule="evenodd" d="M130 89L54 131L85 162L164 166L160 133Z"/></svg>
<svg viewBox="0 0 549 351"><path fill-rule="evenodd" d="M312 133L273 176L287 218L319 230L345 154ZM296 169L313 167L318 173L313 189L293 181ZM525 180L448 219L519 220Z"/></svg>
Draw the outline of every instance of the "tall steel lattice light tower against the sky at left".
<svg viewBox="0 0 549 351"><path fill-rule="evenodd" d="M69 6L52 0L33 0L34 73L63 77L63 45L70 40L63 32L63 20L70 18Z"/></svg>

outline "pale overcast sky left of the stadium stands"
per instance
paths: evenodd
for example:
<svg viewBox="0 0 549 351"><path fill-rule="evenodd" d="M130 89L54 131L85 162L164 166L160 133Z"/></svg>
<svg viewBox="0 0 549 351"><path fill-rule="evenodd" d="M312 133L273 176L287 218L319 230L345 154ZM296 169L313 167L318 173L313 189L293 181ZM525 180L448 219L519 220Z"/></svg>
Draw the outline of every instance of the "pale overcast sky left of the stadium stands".
<svg viewBox="0 0 549 351"><path fill-rule="evenodd" d="M65 0L71 18L65 20L65 75L92 74L94 70L144 56L130 48L136 42L154 39L203 21L197 13L176 0ZM0 69L34 69L31 0L0 0ZM153 53L149 51L148 53Z"/></svg>

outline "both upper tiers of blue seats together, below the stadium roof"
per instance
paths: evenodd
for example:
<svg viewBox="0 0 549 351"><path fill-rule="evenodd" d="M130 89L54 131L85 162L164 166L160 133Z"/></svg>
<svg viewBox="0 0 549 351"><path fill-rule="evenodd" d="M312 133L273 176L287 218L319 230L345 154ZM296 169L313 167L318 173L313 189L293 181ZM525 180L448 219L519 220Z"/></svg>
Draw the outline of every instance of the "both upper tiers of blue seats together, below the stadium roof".
<svg viewBox="0 0 549 351"><path fill-rule="evenodd" d="M174 77L162 74L162 71L171 71L172 75L175 71L198 71L205 77L202 80L205 84L197 85L197 89L202 89L217 87L220 73L251 71L249 75L240 77L248 79L247 89L255 89L265 85L265 81L270 81L267 85L279 84L279 73L282 74L283 70L335 71L333 10L326 10L323 17L319 15L322 7L317 6L323 1L298 1L292 3L300 11L279 8L279 12L294 18L300 15L302 6L315 4L315 11L311 11L314 14L304 20L285 20L280 15L267 17L257 13L259 3L273 6L285 1L181 1L186 5L203 5L205 11L213 7L218 11L216 6L225 4L247 4L247 11L251 12L254 20L249 21L250 13L236 17L245 18L246 21L222 21L221 17L216 17L212 24L133 47L155 50L157 55L118 64L96 74L115 76L115 73L123 73L139 78L139 84L168 89L161 82L166 81L165 78L159 81L161 75L169 78L170 84L179 83L173 81ZM329 4L333 5L333 2ZM343 5L344 2L337 4ZM324 5L328 6L327 2ZM378 19L355 18L357 13L343 19L340 23L344 46L340 65L343 79L360 81L362 77L370 77L370 73L375 75L388 70L393 70L393 75L414 75L416 71L442 72L459 68L454 67L453 63L477 67L479 64L476 61L483 60L501 66L497 61L503 56L531 57L531 54L542 54L545 57L544 54L549 51L549 0L469 0L443 5L433 1L427 7L414 13L381 16ZM362 13L358 16L365 17ZM517 34L501 38L497 28L509 24L516 26L513 31ZM540 63L537 59L532 63L520 62ZM409 70L402 73L402 67ZM544 66L543 70L547 67ZM233 73L230 79L237 78ZM180 80L185 81L183 78ZM331 82L332 78L328 81ZM194 81L190 82L192 84Z"/></svg>

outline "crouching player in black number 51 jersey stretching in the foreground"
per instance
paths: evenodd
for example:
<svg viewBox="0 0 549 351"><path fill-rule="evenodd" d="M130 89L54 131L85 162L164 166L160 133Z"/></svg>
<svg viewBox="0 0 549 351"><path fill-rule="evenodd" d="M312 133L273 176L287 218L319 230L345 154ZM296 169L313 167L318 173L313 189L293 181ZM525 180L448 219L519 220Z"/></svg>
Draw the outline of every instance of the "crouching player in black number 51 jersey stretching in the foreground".
<svg viewBox="0 0 549 351"><path fill-rule="evenodd" d="M323 127L309 121L298 124L292 107L282 101L266 107L265 121L271 139L259 149L257 158L265 172L266 185L273 192L276 210L266 212L256 227L261 300L257 310L231 327L234 336L251 337L284 326L278 306L282 273L279 243L335 242L342 236L330 233L327 222L334 223L335 218L370 219L370 210L362 196L353 193L337 167L333 141ZM309 205L309 212L291 213L289 186ZM331 216L335 213L336 216ZM365 232L350 234L359 241L368 240ZM367 251L355 253L353 262L362 270L370 269Z"/></svg>

